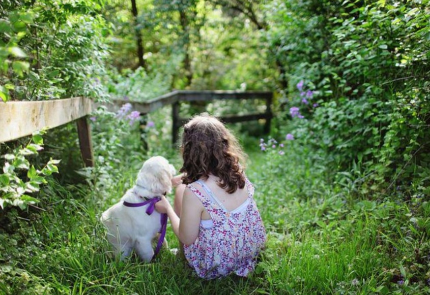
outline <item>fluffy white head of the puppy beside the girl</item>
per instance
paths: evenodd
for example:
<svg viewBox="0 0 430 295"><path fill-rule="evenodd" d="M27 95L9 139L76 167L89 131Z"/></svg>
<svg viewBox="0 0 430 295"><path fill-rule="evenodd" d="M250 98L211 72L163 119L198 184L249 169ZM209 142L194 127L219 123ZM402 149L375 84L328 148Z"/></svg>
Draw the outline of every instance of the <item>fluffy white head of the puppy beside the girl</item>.
<svg viewBox="0 0 430 295"><path fill-rule="evenodd" d="M171 178L175 173L175 167L164 157L151 157L144 162L137 175L136 183L156 194L170 193Z"/></svg>

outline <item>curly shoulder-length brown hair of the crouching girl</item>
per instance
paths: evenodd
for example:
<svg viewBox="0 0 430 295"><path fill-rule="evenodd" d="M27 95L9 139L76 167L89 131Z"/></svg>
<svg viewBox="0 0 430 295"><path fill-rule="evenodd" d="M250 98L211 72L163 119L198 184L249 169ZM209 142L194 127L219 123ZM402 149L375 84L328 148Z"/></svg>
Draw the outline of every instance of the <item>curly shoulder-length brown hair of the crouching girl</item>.
<svg viewBox="0 0 430 295"><path fill-rule="evenodd" d="M228 193L245 186L245 153L236 137L217 118L202 114L185 124L181 150L183 183L206 180L212 174L220 178L218 185Z"/></svg>

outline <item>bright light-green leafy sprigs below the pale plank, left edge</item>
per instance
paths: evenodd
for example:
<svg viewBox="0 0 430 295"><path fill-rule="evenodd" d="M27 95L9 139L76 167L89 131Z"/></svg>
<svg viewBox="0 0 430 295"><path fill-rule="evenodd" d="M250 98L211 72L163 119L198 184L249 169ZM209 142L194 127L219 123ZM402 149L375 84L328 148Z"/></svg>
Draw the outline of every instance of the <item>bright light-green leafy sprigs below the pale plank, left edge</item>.
<svg viewBox="0 0 430 295"><path fill-rule="evenodd" d="M4 209L8 204L25 209L28 204L39 202L28 193L40 190L41 184L46 184L46 177L58 173L56 165L59 160L50 159L41 169L30 164L27 157L38 155L43 149L43 132L33 134L32 140L25 146L14 149L4 155L3 174L0 174L0 207ZM26 175L23 173L26 171Z"/></svg>

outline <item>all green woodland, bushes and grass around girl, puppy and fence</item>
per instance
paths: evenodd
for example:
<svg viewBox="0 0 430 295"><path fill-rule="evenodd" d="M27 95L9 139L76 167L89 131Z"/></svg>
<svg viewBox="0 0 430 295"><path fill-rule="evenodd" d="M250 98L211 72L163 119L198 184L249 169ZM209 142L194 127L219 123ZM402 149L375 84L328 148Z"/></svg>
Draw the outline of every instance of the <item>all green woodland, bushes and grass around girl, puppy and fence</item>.
<svg viewBox="0 0 430 295"><path fill-rule="evenodd" d="M181 165L169 108L99 107L95 168L74 124L2 143L0 292L429 292L429 15L428 0L2 1L4 102L269 90L275 118L269 136L264 122L231 126L269 234L248 279L199 280L168 251L150 265L108 255L98 216L142 160Z"/></svg>

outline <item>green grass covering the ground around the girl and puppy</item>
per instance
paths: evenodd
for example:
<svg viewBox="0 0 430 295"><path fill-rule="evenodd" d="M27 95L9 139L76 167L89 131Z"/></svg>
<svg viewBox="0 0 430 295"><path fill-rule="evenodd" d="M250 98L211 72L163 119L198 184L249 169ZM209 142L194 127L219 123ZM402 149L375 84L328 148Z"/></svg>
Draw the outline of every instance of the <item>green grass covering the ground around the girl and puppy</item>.
<svg viewBox="0 0 430 295"><path fill-rule="evenodd" d="M258 143L243 139L249 154L247 175L256 188L268 241L249 278L199 279L167 250L151 264L135 256L127 261L110 257L98 218L133 183L140 163L132 159L130 167L119 168L109 189L100 180L93 186L51 180L40 196L44 210L2 213L0 294L430 291L427 201L352 198L349 191L327 182L323 167L296 143L285 143L285 155L275 149L262 153ZM169 228L167 239L170 247L177 247Z"/></svg>

